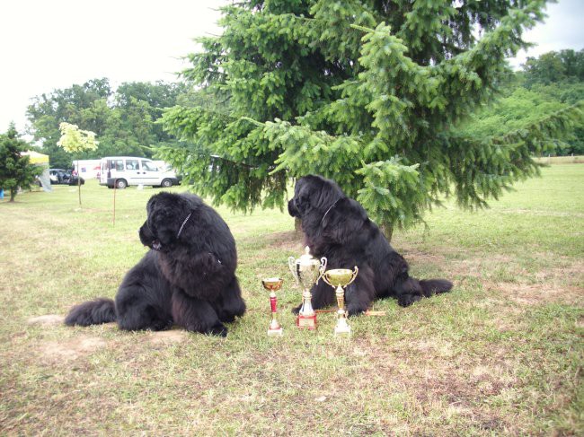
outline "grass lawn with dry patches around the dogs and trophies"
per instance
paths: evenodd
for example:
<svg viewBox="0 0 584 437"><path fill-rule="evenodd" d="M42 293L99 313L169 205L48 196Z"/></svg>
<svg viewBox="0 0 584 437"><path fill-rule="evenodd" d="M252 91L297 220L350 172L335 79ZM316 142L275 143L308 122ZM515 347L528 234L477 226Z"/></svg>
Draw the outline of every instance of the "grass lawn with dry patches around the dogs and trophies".
<svg viewBox="0 0 584 437"><path fill-rule="evenodd" d="M1 435L584 434L584 165L556 165L478 213L455 205L396 232L421 278L451 293L385 317L332 314L298 331L302 253L278 210L219 208L239 252L248 312L223 338L66 328L75 303L113 297L146 249L137 229L158 188L24 193L0 203ZM185 188L172 188L181 191ZM281 338L266 336L261 277L281 275Z"/></svg>

